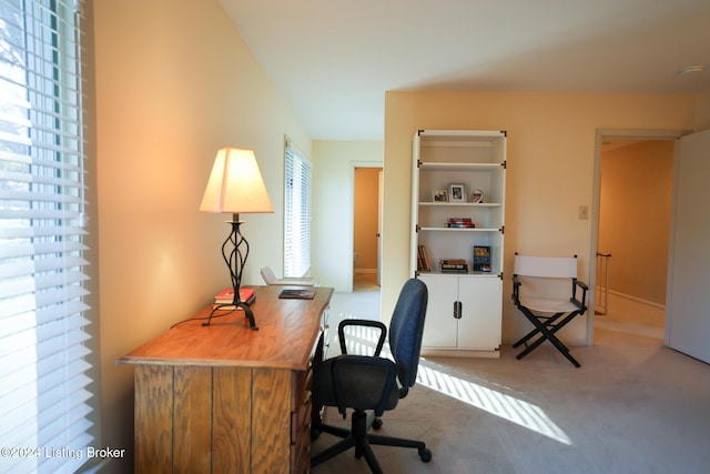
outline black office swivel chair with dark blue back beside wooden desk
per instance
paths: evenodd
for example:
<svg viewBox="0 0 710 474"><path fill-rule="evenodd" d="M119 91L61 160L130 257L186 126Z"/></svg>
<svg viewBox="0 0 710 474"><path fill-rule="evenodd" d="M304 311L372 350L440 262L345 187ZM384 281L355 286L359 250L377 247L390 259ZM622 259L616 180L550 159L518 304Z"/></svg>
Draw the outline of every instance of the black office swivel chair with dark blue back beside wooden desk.
<svg viewBox="0 0 710 474"><path fill-rule="evenodd" d="M399 399L404 399L414 385L419 365L427 301L427 288L420 280L410 279L404 284L389 323L389 349L394 362L379 356L387 333L383 323L365 320L341 322L338 337L343 355L325 360L314 367L313 402L316 406L336 406L344 418L346 410L352 409L352 428L316 423L313 426L314 437L324 432L344 440L313 456L311 466L355 447L356 457L365 456L372 472L382 473L371 444L414 447L422 461L426 463L432 460L432 452L420 441L368 433L366 413L374 411L376 417L372 426L378 430L382 426L379 416L385 411L394 410ZM349 325L379 330L374 355L347 354L345 327Z"/></svg>

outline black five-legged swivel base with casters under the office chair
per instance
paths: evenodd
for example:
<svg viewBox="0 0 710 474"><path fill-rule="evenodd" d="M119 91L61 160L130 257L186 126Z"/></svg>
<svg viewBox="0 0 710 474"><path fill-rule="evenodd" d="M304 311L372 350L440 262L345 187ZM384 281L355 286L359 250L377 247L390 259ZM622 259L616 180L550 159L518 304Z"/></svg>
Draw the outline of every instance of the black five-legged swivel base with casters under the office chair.
<svg viewBox="0 0 710 474"><path fill-rule="evenodd" d="M375 418L373 426L377 428L378 426L382 426L382 422L378 418ZM367 413L365 412L353 412L352 430L345 430L342 427L325 424L318 424L314 426L313 430L315 433L324 432L338 437L343 437L343 441L313 456L311 458L312 467L317 466L318 464L324 463L325 461L354 447L355 456L365 456L365 461L367 462L367 465L373 473L382 473L382 467L379 467L379 463L377 462L375 453L373 453L373 450L371 447L372 444L383 446L413 447L417 450L419 458L423 462L428 463L429 461L432 461L432 451L428 450L426 447L426 444L420 441L381 436L377 434L367 433Z"/></svg>

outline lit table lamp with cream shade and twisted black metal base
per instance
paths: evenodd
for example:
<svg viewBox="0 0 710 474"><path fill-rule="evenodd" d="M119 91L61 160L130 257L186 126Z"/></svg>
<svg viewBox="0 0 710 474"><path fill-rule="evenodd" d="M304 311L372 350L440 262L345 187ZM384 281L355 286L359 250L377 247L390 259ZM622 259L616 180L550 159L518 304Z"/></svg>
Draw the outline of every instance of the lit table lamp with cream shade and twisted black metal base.
<svg viewBox="0 0 710 474"><path fill-rule="evenodd" d="M257 330L254 313L247 302L240 296L242 272L248 256L248 242L240 232L241 213L274 212L266 186L256 164L256 155L252 150L223 148L217 151L212 173L204 190L200 212L231 213L232 232L222 244L222 256L230 269L234 301L212 309L210 317L202 325L210 325L216 311L236 309L244 310L250 327Z"/></svg>

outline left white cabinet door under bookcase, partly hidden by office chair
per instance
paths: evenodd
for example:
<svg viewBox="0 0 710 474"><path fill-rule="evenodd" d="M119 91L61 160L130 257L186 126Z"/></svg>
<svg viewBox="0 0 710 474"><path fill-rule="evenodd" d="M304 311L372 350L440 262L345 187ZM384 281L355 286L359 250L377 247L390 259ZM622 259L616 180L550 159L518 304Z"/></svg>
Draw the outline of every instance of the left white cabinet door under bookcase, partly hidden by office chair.
<svg viewBox="0 0 710 474"><path fill-rule="evenodd" d="M457 321L454 302L458 295L458 276L419 275L428 290L429 302L424 321L424 347L456 347Z"/></svg>

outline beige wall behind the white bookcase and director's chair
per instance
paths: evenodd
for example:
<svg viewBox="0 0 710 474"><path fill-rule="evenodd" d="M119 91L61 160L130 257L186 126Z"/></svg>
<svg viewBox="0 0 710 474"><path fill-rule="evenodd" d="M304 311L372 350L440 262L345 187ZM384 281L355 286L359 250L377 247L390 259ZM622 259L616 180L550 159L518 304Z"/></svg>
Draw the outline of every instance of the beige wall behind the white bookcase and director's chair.
<svg viewBox="0 0 710 474"><path fill-rule="evenodd" d="M508 131L503 337L529 327L510 304L514 252L577 254L589 275L597 129L693 130L707 117L693 95L387 92L383 319L392 313L408 275L412 138L417 129ZM707 107L707 101L706 105ZM590 213L591 215L591 213ZM587 341L587 322L565 329Z"/></svg>

